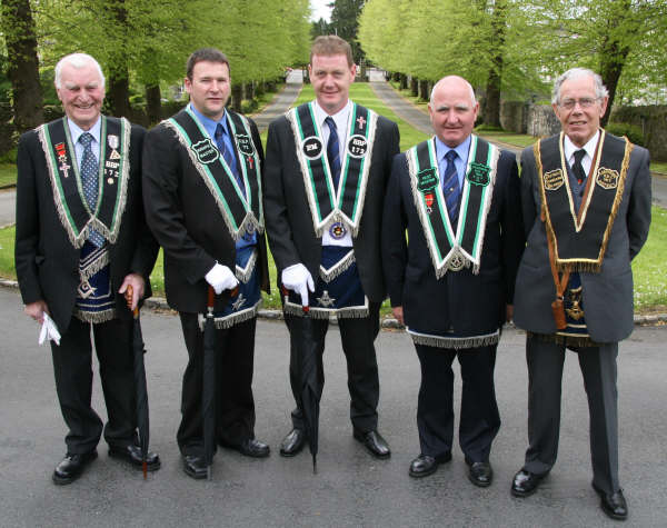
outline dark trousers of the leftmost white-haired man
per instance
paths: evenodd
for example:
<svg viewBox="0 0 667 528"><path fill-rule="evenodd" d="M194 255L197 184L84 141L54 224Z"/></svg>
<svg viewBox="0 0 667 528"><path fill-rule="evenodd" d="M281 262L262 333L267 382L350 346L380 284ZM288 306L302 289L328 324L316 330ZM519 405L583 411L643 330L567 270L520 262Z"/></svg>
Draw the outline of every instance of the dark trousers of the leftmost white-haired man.
<svg viewBox="0 0 667 528"><path fill-rule="evenodd" d="M132 320L111 319L90 323L72 317L62 332L60 346L51 341L58 401L69 427L64 442L67 452L71 455L92 451L102 435L102 420L90 405L91 329L107 405L104 440L109 446L125 447L136 439Z"/></svg>

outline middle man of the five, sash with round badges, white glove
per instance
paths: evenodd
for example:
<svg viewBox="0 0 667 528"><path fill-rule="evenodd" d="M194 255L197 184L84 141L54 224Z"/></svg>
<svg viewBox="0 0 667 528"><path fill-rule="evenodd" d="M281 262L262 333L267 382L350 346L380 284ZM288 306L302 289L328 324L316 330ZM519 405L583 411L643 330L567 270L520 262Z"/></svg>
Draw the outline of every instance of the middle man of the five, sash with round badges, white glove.
<svg viewBox="0 0 667 528"><path fill-rule="evenodd" d="M349 99L357 67L342 39L318 37L308 71L316 100L270 124L265 172L269 243L280 282L290 290L285 311L291 341L297 343L291 347L290 382L299 401L296 348L306 340L301 307L310 307L310 345L320 373L328 318L337 316L354 436L374 456L387 458L389 447L377 430L374 341L386 295L380 262L382 198L398 152L398 127ZM292 425L280 448L286 457L298 454L306 441L298 404Z"/></svg>

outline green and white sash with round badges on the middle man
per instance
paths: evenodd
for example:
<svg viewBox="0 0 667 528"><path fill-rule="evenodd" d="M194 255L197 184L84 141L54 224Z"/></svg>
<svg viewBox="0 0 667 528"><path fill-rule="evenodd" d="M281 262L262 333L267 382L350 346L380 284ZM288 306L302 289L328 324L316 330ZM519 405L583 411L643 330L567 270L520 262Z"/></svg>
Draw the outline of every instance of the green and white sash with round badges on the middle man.
<svg viewBox="0 0 667 528"><path fill-rule="evenodd" d="M327 226L342 222L356 237L364 211L378 116L372 110L352 103L346 128L346 145L341 152L340 182L336 190L313 106L312 101L287 112L295 135L312 226L316 236L321 237Z"/></svg>

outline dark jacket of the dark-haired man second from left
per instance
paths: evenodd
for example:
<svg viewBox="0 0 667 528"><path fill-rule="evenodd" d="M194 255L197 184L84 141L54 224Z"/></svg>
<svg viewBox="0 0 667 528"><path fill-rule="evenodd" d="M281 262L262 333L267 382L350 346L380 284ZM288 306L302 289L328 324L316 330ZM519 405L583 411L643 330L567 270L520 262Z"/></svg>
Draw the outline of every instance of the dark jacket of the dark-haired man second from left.
<svg viewBox="0 0 667 528"><path fill-rule="evenodd" d="M255 122L250 121L250 128L263 165ZM238 159L238 152L236 155ZM165 288L169 306L190 313L206 311L208 282L205 276L216 261L235 270L236 243L187 149L163 123L146 135L143 195L148 225L165 251ZM268 291L265 236L258 233L257 242L260 285ZM216 296L216 309L221 310L227 300L228 292Z"/></svg>

